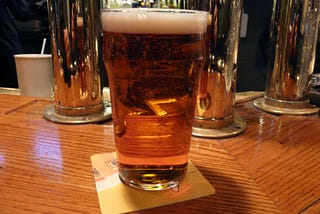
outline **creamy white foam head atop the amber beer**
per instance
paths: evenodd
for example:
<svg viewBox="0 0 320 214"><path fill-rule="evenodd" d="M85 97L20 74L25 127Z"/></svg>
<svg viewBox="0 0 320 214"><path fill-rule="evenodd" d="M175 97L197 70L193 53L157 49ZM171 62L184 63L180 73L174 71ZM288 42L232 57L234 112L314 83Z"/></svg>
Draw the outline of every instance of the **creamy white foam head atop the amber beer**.
<svg viewBox="0 0 320 214"><path fill-rule="evenodd" d="M169 9L110 9L101 13L104 31L119 33L198 34L206 32L208 13Z"/></svg>

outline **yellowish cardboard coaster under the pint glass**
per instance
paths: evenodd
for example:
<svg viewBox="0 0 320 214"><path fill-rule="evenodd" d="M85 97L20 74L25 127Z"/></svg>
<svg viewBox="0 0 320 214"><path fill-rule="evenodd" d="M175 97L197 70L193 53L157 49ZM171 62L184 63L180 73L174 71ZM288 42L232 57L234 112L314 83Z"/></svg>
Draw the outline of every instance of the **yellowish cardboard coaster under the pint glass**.
<svg viewBox="0 0 320 214"><path fill-rule="evenodd" d="M121 182L115 153L91 156L102 213L127 213L173 204L215 193L214 187L189 161L185 179L179 187L165 191L142 191Z"/></svg>

